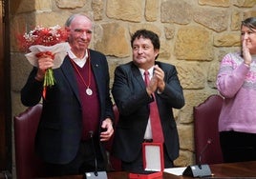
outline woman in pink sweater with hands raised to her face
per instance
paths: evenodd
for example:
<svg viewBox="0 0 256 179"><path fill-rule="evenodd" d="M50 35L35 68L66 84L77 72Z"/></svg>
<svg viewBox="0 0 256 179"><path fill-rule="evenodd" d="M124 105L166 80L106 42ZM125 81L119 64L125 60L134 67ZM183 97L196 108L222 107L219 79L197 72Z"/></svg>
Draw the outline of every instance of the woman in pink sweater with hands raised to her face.
<svg viewBox="0 0 256 179"><path fill-rule="evenodd" d="M226 54L217 76L224 162L256 160L256 17L242 21L240 52Z"/></svg>

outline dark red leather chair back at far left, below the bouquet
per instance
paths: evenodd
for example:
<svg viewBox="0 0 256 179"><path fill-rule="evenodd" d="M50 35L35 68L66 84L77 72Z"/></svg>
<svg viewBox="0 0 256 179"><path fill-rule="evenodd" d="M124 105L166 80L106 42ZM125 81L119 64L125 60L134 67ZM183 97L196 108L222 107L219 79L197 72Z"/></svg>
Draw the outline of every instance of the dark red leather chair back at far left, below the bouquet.
<svg viewBox="0 0 256 179"><path fill-rule="evenodd" d="M42 104L30 107L14 116L14 144L17 179L32 179L44 174L43 162L34 151L34 139Z"/></svg>

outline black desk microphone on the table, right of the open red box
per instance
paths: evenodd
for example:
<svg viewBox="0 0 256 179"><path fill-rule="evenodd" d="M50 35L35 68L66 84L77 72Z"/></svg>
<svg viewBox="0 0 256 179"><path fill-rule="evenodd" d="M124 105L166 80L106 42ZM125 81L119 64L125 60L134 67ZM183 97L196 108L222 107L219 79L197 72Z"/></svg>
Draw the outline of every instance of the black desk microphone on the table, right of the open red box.
<svg viewBox="0 0 256 179"><path fill-rule="evenodd" d="M205 177L205 176L211 176L211 169L208 165L204 164L202 165L202 156L204 151L208 148L208 146L212 143L212 140L209 138L203 147L202 151L200 152L199 156L199 165L194 166L188 166L184 171L182 172L182 175L184 176L190 176L190 177Z"/></svg>

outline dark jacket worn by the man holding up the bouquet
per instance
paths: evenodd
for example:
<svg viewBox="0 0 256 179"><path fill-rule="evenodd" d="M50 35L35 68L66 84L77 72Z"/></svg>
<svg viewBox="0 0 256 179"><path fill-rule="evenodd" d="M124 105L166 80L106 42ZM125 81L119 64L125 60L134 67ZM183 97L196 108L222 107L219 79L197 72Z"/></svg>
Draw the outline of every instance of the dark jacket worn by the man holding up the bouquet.
<svg viewBox="0 0 256 179"><path fill-rule="evenodd" d="M103 54L90 50L90 55L99 96L98 112L100 112L101 124L106 117L114 119L108 64ZM21 100L25 106L34 106L41 99L43 82L34 79L36 71L37 69L33 68L26 85L21 90ZM47 90L46 100L43 101L35 149L46 162L66 164L75 158L82 131L82 111L75 71L68 56L59 69L53 70L53 74L56 84ZM104 153L102 147L101 150Z"/></svg>

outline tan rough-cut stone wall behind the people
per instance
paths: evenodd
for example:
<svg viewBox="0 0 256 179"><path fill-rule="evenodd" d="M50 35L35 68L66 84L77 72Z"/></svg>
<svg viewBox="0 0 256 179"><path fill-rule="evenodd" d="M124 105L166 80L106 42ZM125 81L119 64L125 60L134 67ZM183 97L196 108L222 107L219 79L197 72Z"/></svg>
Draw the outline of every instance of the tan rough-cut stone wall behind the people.
<svg viewBox="0 0 256 179"><path fill-rule="evenodd" d="M10 4L12 115L25 109L19 91L32 69L17 50L17 32L36 25L63 25L70 14L87 13L95 21L91 48L107 55L111 87L117 65L131 60L131 33L142 28L157 32L159 60L177 67L184 89L185 106L175 110L179 166L195 162L193 107L217 93L220 60L225 53L239 50L241 21L256 16L256 0L15 0Z"/></svg>

